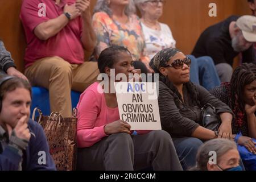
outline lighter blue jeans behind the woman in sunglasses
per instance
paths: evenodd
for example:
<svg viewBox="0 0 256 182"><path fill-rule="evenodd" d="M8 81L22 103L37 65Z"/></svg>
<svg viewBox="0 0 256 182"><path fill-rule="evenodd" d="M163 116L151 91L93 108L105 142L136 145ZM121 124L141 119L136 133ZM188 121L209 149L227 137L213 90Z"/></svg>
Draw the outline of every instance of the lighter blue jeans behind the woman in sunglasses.
<svg viewBox="0 0 256 182"><path fill-rule="evenodd" d="M220 86L220 78L216 71L216 67L211 57L195 57L188 55L192 64L190 67L190 80L198 85L203 86L207 90L211 90L216 86Z"/></svg>

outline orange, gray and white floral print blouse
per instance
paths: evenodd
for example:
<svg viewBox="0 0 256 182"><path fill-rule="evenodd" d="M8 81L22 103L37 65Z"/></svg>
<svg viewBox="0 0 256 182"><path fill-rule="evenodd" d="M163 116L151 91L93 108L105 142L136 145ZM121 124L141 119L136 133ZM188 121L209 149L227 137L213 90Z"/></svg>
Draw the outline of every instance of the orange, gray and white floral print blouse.
<svg viewBox="0 0 256 182"><path fill-rule="evenodd" d="M93 15L92 25L97 36L97 46L92 60L97 60L105 48L117 45L126 47L135 61L149 62L148 57L144 55L143 32L137 15L130 15L127 23L122 24L102 11Z"/></svg>

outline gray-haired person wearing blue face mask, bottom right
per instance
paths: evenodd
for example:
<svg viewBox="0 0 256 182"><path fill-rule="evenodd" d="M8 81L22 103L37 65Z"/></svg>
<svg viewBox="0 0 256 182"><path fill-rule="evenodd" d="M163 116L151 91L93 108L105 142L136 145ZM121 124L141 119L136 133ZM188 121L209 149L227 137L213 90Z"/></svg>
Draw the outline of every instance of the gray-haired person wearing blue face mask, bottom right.
<svg viewBox="0 0 256 182"><path fill-rule="evenodd" d="M216 163L215 163L216 162ZM205 142L196 155L195 171L242 171L237 145L228 139Z"/></svg>

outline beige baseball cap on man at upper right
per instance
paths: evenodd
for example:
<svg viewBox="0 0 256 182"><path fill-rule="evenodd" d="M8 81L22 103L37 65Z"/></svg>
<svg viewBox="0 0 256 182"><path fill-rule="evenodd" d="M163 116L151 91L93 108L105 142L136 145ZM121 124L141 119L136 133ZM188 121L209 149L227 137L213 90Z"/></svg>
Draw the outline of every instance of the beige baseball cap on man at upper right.
<svg viewBox="0 0 256 182"><path fill-rule="evenodd" d="M242 30L243 37L248 42L256 42L256 17L244 15L237 19L237 27Z"/></svg>

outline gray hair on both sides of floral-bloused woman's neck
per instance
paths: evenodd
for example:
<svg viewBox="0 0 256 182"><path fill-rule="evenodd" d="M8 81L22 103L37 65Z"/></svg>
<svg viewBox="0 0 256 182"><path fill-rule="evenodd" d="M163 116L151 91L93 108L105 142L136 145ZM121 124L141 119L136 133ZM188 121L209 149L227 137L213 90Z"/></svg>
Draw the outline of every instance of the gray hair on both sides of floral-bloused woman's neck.
<svg viewBox="0 0 256 182"><path fill-rule="evenodd" d="M93 13L104 11L109 16L112 16L112 10L109 8L108 0L97 0L96 5L94 6ZM136 14L136 8L134 5L134 0L129 0L129 5L125 9L125 14L127 16Z"/></svg>

